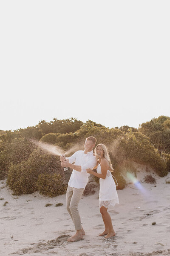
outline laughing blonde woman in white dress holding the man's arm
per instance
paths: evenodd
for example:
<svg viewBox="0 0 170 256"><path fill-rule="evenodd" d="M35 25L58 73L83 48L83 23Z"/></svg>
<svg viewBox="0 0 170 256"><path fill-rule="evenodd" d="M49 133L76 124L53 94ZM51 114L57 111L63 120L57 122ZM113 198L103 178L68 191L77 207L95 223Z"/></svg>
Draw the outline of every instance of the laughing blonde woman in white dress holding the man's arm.
<svg viewBox="0 0 170 256"><path fill-rule="evenodd" d="M99 207L105 224L105 230L103 233L100 233L99 236L107 235L105 238L110 238L115 236L116 233L113 230L111 216L108 213L108 207L114 207L115 204L119 204L119 198L115 182L111 175L113 167L106 146L98 144L94 153L99 158L97 165L94 167L94 169L97 167L97 173L91 169L87 169L86 171L100 178Z"/></svg>

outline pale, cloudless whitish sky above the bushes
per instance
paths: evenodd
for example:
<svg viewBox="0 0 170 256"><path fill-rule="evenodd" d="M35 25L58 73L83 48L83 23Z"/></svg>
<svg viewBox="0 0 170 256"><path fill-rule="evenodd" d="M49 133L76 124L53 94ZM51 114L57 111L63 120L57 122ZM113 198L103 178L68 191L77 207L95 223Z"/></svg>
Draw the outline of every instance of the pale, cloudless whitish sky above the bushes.
<svg viewBox="0 0 170 256"><path fill-rule="evenodd" d="M170 116L169 0L0 0L0 129Z"/></svg>

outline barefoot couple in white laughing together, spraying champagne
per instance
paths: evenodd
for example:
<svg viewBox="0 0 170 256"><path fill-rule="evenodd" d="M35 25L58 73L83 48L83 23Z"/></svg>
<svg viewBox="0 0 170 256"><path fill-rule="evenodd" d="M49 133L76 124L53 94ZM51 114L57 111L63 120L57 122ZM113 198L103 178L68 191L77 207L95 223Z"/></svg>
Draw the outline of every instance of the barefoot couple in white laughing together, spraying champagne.
<svg viewBox="0 0 170 256"><path fill-rule="evenodd" d="M66 208L74 222L76 233L68 241L74 242L82 239L85 231L82 228L78 211L78 204L90 174L100 178L99 207L105 230L99 236L110 238L115 236L111 216L108 213L109 206L119 204L116 185L111 175L113 167L107 151L103 144L98 144L94 150L96 138L88 137L85 140L85 150L76 151L71 157L60 156L61 166L73 169L66 193ZM73 164L74 163L74 164ZM97 168L97 173L93 169Z"/></svg>

